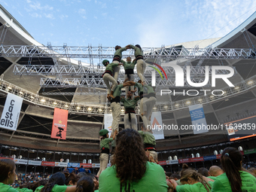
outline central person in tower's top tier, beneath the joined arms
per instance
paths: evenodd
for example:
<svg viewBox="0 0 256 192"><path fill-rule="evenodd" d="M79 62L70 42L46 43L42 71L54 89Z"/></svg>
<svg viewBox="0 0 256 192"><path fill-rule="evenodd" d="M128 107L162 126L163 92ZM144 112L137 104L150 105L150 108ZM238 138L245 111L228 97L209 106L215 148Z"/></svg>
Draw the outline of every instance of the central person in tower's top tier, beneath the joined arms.
<svg viewBox="0 0 256 192"><path fill-rule="evenodd" d="M136 65L136 60L133 60L132 62L132 58L130 56L128 56L126 58L126 62L121 59L120 62L123 63L123 69L125 71L125 75L124 75L124 79L128 79L128 81L134 81L135 77L134 77L134 67ZM125 94L127 95L128 90L131 90L132 92L134 91L134 86L130 86L130 87L126 87L125 89Z"/></svg>

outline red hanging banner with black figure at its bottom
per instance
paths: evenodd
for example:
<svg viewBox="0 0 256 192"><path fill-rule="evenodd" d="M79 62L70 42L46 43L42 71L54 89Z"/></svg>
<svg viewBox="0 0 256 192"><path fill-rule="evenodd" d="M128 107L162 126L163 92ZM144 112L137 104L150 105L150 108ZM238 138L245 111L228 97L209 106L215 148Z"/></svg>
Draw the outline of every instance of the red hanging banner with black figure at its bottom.
<svg viewBox="0 0 256 192"><path fill-rule="evenodd" d="M54 108L53 127L50 136L51 138L66 139L68 115L68 110Z"/></svg>

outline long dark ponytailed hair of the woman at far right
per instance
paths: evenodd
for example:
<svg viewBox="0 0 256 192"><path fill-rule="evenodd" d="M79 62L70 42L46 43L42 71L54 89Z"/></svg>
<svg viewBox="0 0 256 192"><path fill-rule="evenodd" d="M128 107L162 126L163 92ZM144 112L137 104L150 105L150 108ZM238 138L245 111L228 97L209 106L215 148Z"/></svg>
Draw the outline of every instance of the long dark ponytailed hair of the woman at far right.
<svg viewBox="0 0 256 192"><path fill-rule="evenodd" d="M239 173L242 169L241 161L242 154L236 148L225 148L221 154L221 166L230 181L232 192L242 191L242 179Z"/></svg>

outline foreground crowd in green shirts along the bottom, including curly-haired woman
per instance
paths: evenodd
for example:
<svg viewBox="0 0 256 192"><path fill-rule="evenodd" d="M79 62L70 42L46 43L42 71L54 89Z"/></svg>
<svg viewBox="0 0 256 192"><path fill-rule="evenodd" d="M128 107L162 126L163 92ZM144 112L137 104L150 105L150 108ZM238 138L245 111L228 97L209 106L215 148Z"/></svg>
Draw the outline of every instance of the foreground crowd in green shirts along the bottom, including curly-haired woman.
<svg viewBox="0 0 256 192"><path fill-rule="evenodd" d="M14 161L5 159L0 160L0 192L256 191L255 162L242 160L236 148L225 148L220 166L196 170L183 164L181 172L164 172L157 162L148 159L139 133L126 129L117 134L113 166L99 178L82 166L53 175L16 174Z"/></svg>

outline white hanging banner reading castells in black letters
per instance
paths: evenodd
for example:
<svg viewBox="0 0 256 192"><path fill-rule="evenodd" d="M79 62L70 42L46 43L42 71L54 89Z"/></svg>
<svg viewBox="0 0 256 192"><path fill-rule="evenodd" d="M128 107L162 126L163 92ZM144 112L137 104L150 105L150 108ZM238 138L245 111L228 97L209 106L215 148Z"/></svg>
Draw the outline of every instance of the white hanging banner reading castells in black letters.
<svg viewBox="0 0 256 192"><path fill-rule="evenodd" d="M23 98L8 93L5 100L5 108L2 112L0 126L7 130L17 130L17 124L20 117L20 108L23 104Z"/></svg>

